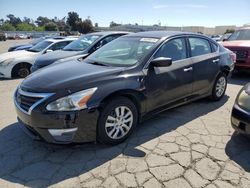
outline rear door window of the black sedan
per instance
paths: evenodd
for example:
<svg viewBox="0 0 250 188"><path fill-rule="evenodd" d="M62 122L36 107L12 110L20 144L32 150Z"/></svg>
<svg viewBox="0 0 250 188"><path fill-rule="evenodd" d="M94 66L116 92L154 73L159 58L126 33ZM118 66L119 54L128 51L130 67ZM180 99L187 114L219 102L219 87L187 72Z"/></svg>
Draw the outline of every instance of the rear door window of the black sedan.
<svg viewBox="0 0 250 188"><path fill-rule="evenodd" d="M202 38L189 38L191 46L191 55L199 56L211 53L210 44L207 40Z"/></svg>

